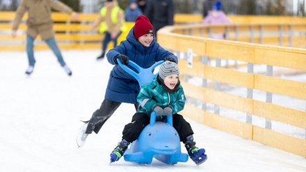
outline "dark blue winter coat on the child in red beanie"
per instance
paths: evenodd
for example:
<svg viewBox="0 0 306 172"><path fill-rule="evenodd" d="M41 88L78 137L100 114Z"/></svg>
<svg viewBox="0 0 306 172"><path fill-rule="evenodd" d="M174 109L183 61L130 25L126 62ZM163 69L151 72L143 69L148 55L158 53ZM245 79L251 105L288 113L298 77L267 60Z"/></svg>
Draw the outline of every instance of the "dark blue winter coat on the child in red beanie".
<svg viewBox="0 0 306 172"><path fill-rule="evenodd" d="M106 54L108 62L115 65L114 57L118 54L127 55L129 60L143 68L151 67L155 62L159 62L166 57L173 58L177 62L177 56L163 49L155 38L149 47L140 44L134 37L134 27L129 31L127 40L122 41L119 46L108 51ZM105 99L136 104L139 90L140 87L137 80L127 74L119 65L115 65L108 79Z"/></svg>

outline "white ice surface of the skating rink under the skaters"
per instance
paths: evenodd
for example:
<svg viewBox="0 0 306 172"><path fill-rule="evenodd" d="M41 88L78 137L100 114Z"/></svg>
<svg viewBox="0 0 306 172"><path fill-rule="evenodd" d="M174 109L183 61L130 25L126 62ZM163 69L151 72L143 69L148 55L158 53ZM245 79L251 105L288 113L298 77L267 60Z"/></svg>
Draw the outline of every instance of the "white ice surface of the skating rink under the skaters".
<svg viewBox="0 0 306 172"><path fill-rule="evenodd" d="M191 160L174 166L154 160L134 164L122 160L109 164L109 154L121 139L134 105L122 104L98 135L77 148L80 120L88 120L104 99L112 65L97 61L99 51L63 51L72 77L51 51L36 51L36 66L29 77L26 53L0 55L0 171L306 171L306 159L215 130L187 119L207 162ZM182 145L182 151L186 152Z"/></svg>

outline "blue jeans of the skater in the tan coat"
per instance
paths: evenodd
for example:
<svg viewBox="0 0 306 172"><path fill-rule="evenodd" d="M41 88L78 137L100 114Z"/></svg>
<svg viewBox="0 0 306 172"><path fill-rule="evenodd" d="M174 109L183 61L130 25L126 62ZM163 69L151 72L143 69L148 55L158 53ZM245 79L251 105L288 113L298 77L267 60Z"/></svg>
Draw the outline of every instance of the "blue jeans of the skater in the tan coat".
<svg viewBox="0 0 306 172"><path fill-rule="evenodd" d="M26 53L28 54L29 66L32 66L32 67L35 66L35 62L36 62L34 58L34 41L35 41L35 37L26 35ZM54 55L56 55L56 58L58 59L58 62L61 64L61 66L62 67L65 66L66 63L63 59L63 55L61 54L60 49L58 49L55 37L51 37L44 41L47 43L49 48L53 51Z"/></svg>

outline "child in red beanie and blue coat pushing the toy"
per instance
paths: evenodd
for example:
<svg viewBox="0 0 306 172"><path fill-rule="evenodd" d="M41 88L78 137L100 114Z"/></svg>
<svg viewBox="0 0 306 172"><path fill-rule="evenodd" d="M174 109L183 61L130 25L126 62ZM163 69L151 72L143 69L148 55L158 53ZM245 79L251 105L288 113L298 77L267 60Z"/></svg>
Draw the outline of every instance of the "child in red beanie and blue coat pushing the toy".
<svg viewBox="0 0 306 172"><path fill-rule="evenodd" d="M83 146L92 131L96 134L99 132L121 103L131 103L134 104L136 110L138 108L136 100L140 90L138 81L122 70L118 65L118 60L124 65L128 65L131 60L142 68L151 67L160 60L177 62L177 56L163 49L155 41L154 35L154 29L149 19L140 15L136 19L134 27L129 31L127 40L108 51L106 58L111 65L115 66L111 70L101 107L92 114L89 121L83 123L79 135L77 135L79 147Z"/></svg>

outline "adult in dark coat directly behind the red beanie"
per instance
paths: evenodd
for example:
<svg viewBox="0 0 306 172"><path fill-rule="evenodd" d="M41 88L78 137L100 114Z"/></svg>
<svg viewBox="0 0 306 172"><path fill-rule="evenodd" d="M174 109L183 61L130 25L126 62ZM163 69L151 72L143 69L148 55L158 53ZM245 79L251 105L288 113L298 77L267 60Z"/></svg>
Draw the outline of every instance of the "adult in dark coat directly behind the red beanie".
<svg viewBox="0 0 306 172"><path fill-rule="evenodd" d="M175 8L172 0L148 0L145 15L157 32L163 26L173 25Z"/></svg>

